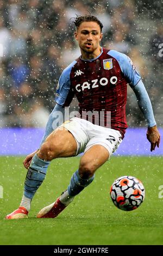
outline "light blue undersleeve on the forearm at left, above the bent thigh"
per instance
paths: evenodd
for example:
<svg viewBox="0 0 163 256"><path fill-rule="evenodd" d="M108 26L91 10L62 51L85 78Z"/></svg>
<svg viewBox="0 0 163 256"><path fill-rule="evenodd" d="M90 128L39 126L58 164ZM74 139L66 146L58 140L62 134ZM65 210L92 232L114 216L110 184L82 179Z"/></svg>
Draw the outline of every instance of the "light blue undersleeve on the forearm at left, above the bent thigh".
<svg viewBox="0 0 163 256"><path fill-rule="evenodd" d="M40 143L40 147L45 142L45 139L48 137L49 134L51 134L52 131L57 129L65 119L65 108L59 106L58 104L55 105L53 108L53 111L49 115L49 119L47 121L45 133L43 135L43 138Z"/></svg>

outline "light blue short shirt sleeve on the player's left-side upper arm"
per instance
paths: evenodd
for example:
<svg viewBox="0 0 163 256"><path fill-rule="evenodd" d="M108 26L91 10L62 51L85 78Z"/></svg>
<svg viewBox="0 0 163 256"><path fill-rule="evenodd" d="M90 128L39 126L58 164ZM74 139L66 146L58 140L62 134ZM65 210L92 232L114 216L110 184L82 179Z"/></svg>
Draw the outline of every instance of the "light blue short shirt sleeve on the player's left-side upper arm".
<svg viewBox="0 0 163 256"><path fill-rule="evenodd" d="M66 69L64 69L64 71L62 72L60 78L59 78L59 82L58 82L58 86L56 89L56 93L55 93L55 102L60 105L60 106L64 106L66 101L70 101L72 99L68 99L68 94L70 93L71 90L71 83L70 83L70 73L71 73L71 69L72 67L76 64L76 60L74 60L69 66L67 66Z"/></svg>

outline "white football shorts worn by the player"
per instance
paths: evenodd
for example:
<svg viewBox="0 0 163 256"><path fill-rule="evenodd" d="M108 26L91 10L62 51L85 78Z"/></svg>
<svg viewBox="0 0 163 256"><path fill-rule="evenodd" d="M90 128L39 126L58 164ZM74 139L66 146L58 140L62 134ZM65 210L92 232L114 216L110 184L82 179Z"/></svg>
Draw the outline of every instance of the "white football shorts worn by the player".
<svg viewBox="0 0 163 256"><path fill-rule="evenodd" d="M60 127L65 127L76 139L76 155L85 153L93 145L102 145L109 151L110 157L122 142L122 136L119 131L95 125L90 121L77 117L66 121Z"/></svg>

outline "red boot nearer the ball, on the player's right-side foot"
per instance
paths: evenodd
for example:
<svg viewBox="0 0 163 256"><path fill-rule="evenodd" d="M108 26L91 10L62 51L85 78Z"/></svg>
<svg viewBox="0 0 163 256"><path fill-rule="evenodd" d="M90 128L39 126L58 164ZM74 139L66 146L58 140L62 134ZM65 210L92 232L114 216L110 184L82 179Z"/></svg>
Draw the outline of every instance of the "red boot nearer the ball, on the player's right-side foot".
<svg viewBox="0 0 163 256"><path fill-rule="evenodd" d="M37 218L55 218L65 208L66 205L62 204L58 198L54 203L42 208L37 214Z"/></svg>

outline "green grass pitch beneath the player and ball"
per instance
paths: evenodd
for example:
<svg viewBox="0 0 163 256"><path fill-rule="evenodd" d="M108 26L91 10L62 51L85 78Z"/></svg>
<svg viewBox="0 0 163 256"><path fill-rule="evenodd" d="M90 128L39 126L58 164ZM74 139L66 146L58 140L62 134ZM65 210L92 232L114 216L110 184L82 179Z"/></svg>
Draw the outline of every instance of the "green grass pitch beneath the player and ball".
<svg viewBox="0 0 163 256"><path fill-rule="evenodd" d="M163 245L162 157L112 157L57 218L37 219L37 212L54 202L78 168L79 157L53 160L25 220L4 219L22 198L23 157L0 160L1 245ZM131 212L117 209L109 195L112 182L122 175L136 176L146 189L145 201Z"/></svg>

